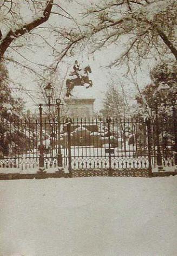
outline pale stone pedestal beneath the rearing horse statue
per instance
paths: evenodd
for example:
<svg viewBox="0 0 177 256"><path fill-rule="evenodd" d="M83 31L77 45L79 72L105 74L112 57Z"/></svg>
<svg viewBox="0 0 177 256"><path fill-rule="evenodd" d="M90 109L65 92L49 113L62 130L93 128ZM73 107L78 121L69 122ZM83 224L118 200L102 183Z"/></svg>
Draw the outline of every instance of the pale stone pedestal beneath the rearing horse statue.
<svg viewBox="0 0 177 256"><path fill-rule="evenodd" d="M94 101L95 99L69 98L65 99L65 111L67 116L71 118L94 117Z"/></svg>

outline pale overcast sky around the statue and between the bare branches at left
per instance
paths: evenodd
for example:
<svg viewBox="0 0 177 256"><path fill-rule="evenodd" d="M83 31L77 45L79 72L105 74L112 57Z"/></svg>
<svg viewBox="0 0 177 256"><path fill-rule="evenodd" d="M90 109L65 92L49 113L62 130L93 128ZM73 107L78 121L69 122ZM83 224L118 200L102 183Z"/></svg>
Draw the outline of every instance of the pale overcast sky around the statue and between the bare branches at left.
<svg viewBox="0 0 177 256"><path fill-rule="evenodd" d="M80 1L81 2L81 1ZM85 2L85 1L84 1ZM86 1L89 3L90 1ZM65 5L65 6L64 6ZM63 7L67 9L68 12L70 12L71 15L73 15L75 18L78 19L78 13L81 11L81 6L76 5L73 2L64 4ZM28 11L26 10L26 16L28 17ZM30 18L30 17L29 17ZM50 25L51 24L60 24L64 27L69 26L69 21L65 20L65 18L62 18L58 15L53 15L49 20ZM47 25L49 25L49 23ZM54 39L45 33L45 37L47 37L48 41L53 44ZM38 44L39 47L33 47L31 48L32 51L27 50L25 47L22 47L21 54L32 62L38 62L42 65L49 65L50 62L53 61L53 56L50 54L50 50L48 49L47 45L43 42L42 39L40 39L39 36L34 36L33 39L30 41L30 43ZM121 54L121 51L123 50L123 42L120 44L120 46L112 46L109 48L103 48L97 51L94 55L88 54L88 49L84 49L84 51L80 51L80 53L76 54L73 57L65 57L65 59L60 63L57 69L58 73L58 84L60 83L59 80L63 80L65 73L67 71L67 68L69 67L69 71L72 71L73 64L75 60L78 60L81 63L81 67L84 67L86 65L90 65L92 69L92 73L89 75L90 79L93 80L93 87L91 88L84 88L84 87L77 87L74 89L73 95L74 97L81 97L81 98L95 98L95 111L99 110L102 107L102 99L104 98L104 94L107 91L107 87L110 83L115 84L118 88L120 88L121 92L121 86L120 82L124 84L124 89L130 97L134 97L134 95L137 93L137 88L134 85L132 78L129 76L129 78L124 78L123 74L125 72L125 67L122 66L120 69L114 67L114 68L108 68L106 67L109 65L110 62L114 61L115 56L119 56ZM21 61L23 58L19 56L19 54L16 54L14 50L9 51L11 55L16 56L16 58ZM32 64L31 64L32 65ZM136 75L134 75L134 79L137 79L137 82L140 86L140 88L143 88L145 85L150 82L149 78L149 68L153 66L150 62L145 62L145 65L143 65L142 71L137 72ZM30 109L34 109L35 103L39 103L39 100L37 99L36 90L37 90L37 84L34 81L35 75L32 73L29 73L25 70L22 71L22 68L14 65L9 65L9 73L10 77L14 79L15 81L21 83L23 87L26 89L29 89L30 95L32 95L32 98L28 97L24 93L19 93L15 91L17 95L21 95L25 101L26 101L26 107ZM57 81L56 81L57 84ZM133 101L132 101L133 102Z"/></svg>

